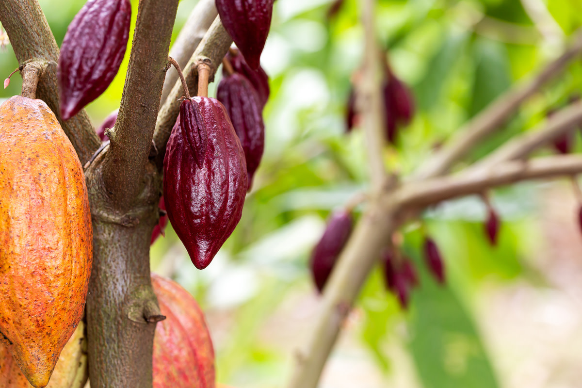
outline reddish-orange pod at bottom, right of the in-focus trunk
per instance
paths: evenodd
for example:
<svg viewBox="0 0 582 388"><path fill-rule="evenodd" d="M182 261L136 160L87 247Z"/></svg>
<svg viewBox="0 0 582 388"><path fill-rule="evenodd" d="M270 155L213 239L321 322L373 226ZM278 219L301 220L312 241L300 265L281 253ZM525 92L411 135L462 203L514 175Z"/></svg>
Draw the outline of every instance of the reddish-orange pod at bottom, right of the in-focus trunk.
<svg viewBox="0 0 582 388"><path fill-rule="evenodd" d="M154 388L214 388L214 348L204 314L178 283L152 274L166 319L154 337Z"/></svg>

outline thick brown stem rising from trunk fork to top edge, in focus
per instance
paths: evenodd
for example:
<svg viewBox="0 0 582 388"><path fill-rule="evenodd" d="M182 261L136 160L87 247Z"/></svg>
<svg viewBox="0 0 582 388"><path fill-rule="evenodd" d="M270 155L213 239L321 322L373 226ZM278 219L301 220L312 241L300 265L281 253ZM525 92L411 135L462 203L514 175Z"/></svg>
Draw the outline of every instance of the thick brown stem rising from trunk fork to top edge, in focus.
<svg viewBox="0 0 582 388"><path fill-rule="evenodd" d="M115 130L103 165L113 204L129 208L143 188L178 0L141 0Z"/></svg>

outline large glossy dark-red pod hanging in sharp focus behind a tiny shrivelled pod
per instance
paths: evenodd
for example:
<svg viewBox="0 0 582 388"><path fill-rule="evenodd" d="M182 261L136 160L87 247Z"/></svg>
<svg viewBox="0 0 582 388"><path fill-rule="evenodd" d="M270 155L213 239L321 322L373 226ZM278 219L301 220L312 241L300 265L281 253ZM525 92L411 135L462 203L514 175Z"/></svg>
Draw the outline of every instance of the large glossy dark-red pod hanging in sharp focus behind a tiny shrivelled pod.
<svg viewBox="0 0 582 388"><path fill-rule="evenodd" d="M168 219L196 268L210 264L235 230L247 191L247 167L242 145L222 104L194 97L204 120L205 152L194 160L178 118L164 158L164 201Z"/></svg>

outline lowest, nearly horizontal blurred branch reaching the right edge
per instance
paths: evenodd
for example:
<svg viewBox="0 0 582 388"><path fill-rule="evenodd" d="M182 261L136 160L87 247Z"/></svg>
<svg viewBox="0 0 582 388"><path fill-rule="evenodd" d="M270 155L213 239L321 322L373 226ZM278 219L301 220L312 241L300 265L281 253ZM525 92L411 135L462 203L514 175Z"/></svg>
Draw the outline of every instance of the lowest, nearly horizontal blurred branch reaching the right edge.
<svg viewBox="0 0 582 388"><path fill-rule="evenodd" d="M571 176L582 173L582 156L545 156L531 161L509 161L495 166L495 169L481 169L477 172L463 172L456 176L432 178L410 182L394 194L387 195L386 201L396 202L400 207L424 208L441 201L480 194L497 186L504 186L523 180Z"/></svg>

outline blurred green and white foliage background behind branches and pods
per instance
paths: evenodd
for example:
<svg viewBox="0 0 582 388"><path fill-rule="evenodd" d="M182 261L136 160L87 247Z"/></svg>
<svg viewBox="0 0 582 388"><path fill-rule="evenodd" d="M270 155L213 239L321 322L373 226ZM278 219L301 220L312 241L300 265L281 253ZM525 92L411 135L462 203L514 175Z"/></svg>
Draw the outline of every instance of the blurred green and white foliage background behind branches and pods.
<svg viewBox="0 0 582 388"><path fill-rule="evenodd" d="M84 1L39 1L60 45ZM527 2L545 5L555 34L540 34ZM195 3L180 2L174 37ZM152 269L178 280L205 309L220 382L283 386L294 350L318 312L310 250L329 212L367 186L361 131L346 134L344 122L350 76L363 48L357 3L346 0L328 19L329 0L275 2L262 55L271 77L265 155L239 226L204 271L191 265L171 228L152 246ZM396 147L386 148L386 163L404 175L499 94L558 55L582 24L579 0L379 0L376 16L379 41L418 106ZM96 125L119 106L128 60L87 107ZM0 74L16 67L8 46ZM467 161L543 122L548 109L567 104L581 87L576 60ZM19 92L15 76L0 97ZM376 270L321 387L579 387L582 238L572 191L567 183L527 183L491 196L502 216L498 247L485 240L485 206L477 197L425 213L424 228L446 260L444 287L424 269L421 223L404 227L404 251L421 272L409 311L400 311Z"/></svg>

